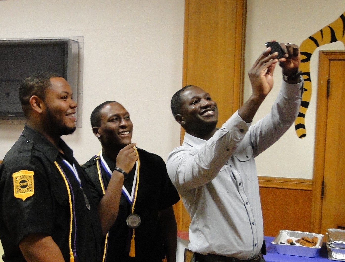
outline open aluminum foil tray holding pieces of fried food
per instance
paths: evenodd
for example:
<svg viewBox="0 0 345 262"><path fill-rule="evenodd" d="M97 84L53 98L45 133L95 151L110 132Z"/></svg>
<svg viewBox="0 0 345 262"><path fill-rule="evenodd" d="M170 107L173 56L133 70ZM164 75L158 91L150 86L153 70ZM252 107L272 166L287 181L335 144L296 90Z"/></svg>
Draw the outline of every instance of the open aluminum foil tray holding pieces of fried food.
<svg viewBox="0 0 345 262"><path fill-rule="evenodd" d="M281 244L286 243L286 239L288 238L291 238L295 241L295 239L302 238L302 236L307 236L309 238L316 236L318 238L316 246L309 248L308 246L302 246L298 243L296 243L296 245ZM321 248L323 236L324 235L322 234L310 232L280 230L271 243L274 244L279 254L307 256L309 258L312 258L316 255L317 250Z"/></svg>

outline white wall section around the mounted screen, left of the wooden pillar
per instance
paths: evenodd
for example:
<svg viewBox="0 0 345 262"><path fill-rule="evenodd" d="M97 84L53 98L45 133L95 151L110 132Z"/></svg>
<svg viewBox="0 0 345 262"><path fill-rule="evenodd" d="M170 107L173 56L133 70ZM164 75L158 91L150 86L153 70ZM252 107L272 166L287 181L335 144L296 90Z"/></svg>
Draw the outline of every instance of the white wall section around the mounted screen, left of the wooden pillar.
<svg viewBox="0 0 345 262"><path fill-rule="evenodd" d="M181 88L184 0L0 1L0 38L83 36L82 128L63 139L84 163L100 150L90 114L116 100L130 112L133 142L166 159L179 145L170 98ZM21 133L0 125L0 159Z"/></svg>

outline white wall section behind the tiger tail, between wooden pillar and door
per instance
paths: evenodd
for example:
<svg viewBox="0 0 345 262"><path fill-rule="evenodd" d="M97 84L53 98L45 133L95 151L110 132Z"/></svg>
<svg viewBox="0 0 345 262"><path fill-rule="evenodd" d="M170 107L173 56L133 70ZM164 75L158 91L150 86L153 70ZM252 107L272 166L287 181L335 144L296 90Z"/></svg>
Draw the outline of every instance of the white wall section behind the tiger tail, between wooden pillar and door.
<svg viewBox="0 0 345 262"><path fill-rule="evenodd" d="M245 72L265 50L264 43L277 40L284 43L301 44L316 31L336 20L345 11L343 0L248 0L247 31L245 49ZM313 177L315 112L317 93L318 50L344 49L341 42L319 47L311 59L312 99L306 113L307 136L299 139L293 126L271 148L256 158L258 175L272 177ZM276 98L282 81L281 69L276 67L274 88L259 108L253 122L268 113ZM246 75L244 100L251 94Z"/></svg>

